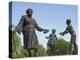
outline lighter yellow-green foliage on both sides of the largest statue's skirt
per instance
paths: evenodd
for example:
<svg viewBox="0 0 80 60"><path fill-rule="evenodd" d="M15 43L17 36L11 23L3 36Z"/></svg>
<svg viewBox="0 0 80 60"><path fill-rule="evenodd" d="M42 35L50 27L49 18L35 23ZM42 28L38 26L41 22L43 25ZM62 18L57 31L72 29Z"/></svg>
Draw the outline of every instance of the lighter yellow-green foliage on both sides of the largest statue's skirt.
<svg viewBox="0 0 80 60"><path fill-rule="evenodd" d="M25 50L21 45L20 37L16 32L12 32L12 58L22 58L28 57L28 51ZM38 56L46 56L46 50L43 45L39 44ZM34 56L34 51L31 51L32 56Z"/></svg>

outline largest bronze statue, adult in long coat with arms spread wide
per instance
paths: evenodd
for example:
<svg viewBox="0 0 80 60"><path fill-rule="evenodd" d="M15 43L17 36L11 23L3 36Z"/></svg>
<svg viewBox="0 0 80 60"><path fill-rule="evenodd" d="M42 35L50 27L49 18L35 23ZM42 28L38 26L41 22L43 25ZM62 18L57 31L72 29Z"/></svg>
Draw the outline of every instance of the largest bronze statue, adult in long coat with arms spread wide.
<svg viewBox="0 0 80 60"><path fill-rule="evenodd" d="M20 34L23 33L24 49L27 49L29 56L31 56L31 50L34 49L35 56L37 56L38 38L35 29L39 32L47 33L48 29L43 29L38 26L36 20L32 17L33 10L28 8L26 10L27 15L23 15L19 24L16 27L16 31Z"/></svg>

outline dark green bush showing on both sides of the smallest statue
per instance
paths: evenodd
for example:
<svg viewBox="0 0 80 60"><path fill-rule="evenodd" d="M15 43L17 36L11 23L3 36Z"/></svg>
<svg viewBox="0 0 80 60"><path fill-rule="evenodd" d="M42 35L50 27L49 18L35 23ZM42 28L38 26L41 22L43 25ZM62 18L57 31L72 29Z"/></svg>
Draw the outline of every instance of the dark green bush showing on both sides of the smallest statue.
<svg viewBox="0 0 80 60"><path fill-rule="evenodd" d="M56 45L55 47L53 47L53 55L66 55L68 54L68 49L69 49L69 42L66 42L64 39L59 38L56 41ZM51 53L50 51L50 47L47 47L47 53L48 55L50 55L49 53Z"/></svg>

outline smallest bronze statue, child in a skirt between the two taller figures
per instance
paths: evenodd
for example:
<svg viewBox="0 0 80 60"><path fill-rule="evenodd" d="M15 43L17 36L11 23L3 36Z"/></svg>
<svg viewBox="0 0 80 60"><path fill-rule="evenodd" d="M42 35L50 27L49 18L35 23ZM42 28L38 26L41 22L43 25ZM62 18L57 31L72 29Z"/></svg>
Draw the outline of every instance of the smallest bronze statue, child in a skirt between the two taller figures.
<svg viewBox="0 0 80 60"><path fill-rule="evenodd" d="M47 37L46 36L46 39L49 39L48 40L48 43L47 45L50 47L50 53L49 55L56 55L56 40L57 40L57 37L56 37L56 34L55 34L56 30L55 29L52 29L52 33Z"/></svg>

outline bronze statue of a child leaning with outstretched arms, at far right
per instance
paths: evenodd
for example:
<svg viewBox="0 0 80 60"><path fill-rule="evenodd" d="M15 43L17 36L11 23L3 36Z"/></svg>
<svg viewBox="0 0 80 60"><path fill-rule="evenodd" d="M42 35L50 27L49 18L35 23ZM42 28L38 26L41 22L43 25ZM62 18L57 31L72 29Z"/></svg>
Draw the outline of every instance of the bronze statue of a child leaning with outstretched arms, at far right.
<svg viewBox="0 0 80 60"><path fill-rule="evenodd" d="M73 27L71 25L71 20L67 19L66 21L67 24L67 28L64 32L61 32L60 35L64 36L67 33L70 33L71 35L71 40L70 40L70 46L69 46L69 53L70 54L77 54L76 53L76 49L77 49L77 45L76 45L76 34L75 31L73 30ZM74 47L74 50L72 51L72 47Z"/></svg>

